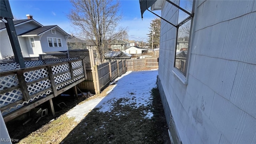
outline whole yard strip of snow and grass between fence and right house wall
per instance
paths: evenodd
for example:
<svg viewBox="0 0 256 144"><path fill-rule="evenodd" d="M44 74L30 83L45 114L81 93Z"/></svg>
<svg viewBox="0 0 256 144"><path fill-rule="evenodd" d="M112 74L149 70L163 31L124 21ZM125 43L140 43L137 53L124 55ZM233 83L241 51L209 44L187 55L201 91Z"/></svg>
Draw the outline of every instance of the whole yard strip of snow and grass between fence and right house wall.
<svg viewBox="0 0 256 144"><path fill-rule="evenodd" d="M157 74L158 70L126 72L102 92L104 96L92 96L54 120L63 123L61 128L59 122L49 123L56 128L48 133L62 134L48 140L30 134L21 143L169 144Z"/></svg>

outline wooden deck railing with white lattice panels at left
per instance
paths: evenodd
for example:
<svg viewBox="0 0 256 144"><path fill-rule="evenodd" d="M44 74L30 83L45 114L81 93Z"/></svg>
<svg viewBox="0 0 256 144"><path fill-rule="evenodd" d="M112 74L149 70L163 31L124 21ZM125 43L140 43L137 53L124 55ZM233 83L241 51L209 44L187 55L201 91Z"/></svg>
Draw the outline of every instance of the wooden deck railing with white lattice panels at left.
<svg viewBox="0 0 256 144"><path fill-rule="evenodd" d="M16 111L50 94L58 96L71 88L70 84L80 83L86 78L83 59L2 72L0 77L2 115Z"/></svg>

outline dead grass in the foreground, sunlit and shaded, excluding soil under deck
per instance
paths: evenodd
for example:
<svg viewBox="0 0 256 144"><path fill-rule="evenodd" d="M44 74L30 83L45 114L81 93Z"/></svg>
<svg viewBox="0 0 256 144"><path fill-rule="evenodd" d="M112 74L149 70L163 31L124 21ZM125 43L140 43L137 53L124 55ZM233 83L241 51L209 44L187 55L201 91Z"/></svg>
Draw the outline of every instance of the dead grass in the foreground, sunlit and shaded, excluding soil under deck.
<svg viewBox="0 0 256 144"><path fill-rule="evenodd" d="M106 96L108 86L101 94ZM119 99L111 112L93 109L81 122L63 114L32 132L20 144L170 144L166 119L157 88L152 89L153 102L150 106L132 108L120 105ZM85 101L88 101L85 100ZM146 112L154 116L145 118Z"/></svg>

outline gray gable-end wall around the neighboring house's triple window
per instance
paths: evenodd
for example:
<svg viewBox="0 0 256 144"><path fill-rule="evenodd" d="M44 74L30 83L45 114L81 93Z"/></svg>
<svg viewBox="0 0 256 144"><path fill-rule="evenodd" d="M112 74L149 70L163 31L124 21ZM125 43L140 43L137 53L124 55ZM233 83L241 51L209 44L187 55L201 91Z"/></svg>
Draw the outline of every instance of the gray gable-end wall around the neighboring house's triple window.
<svg viewBox="0 0 256 144"><path fill-rule="evenodd" d="M47 37L52 38L61 38L62 40L62 47L49 47ZM41 38L41 47L43 52L55 52L55 51L66 51L68 50L67 42L65 36L58 31L56 28L56 34L52 34L49 30L45 32Z"/></svg>

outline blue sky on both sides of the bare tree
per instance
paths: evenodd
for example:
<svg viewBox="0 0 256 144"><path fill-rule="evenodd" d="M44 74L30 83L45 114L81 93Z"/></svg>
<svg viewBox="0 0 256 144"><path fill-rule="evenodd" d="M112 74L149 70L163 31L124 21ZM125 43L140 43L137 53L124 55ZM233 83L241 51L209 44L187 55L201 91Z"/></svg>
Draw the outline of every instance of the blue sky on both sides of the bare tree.
<svg viewBox="0 0 256 144"><path fill-rule="evenodd" d="M58 25L68 34L74 32L66 16L72 8L69 0L9 0L9 2L16 19L26 19L26 14L31 14L33 19L42 25ZM129 40L146 42L150 22L156 16L146 11L142 20L139 0L120 0L120 4L120 11L124 16L120 26L128 27Z"/></svg>

